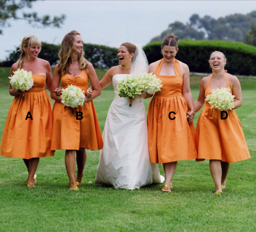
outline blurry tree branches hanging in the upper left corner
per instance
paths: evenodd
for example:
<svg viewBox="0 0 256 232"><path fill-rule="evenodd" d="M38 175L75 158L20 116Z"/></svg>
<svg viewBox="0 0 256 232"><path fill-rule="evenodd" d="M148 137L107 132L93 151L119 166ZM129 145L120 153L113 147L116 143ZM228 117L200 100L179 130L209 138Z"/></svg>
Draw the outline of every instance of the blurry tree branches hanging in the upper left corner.
<svg viewBox="0 0 256 232"><path fill-rule="evenodd" d="M65 20L65 15L62 14L60 17L54 16L50 18L49 15L44 15L39 17L36 12L32 13L22 13L22 16L19 16L19 12L23 8L32 8L32 3L37 0L1 0L0 1L0 34L3 33L1 28L10 27L11 24L9 21L13 20L26 20L29 24L33 26L41 25L60 27Z"/></svg>

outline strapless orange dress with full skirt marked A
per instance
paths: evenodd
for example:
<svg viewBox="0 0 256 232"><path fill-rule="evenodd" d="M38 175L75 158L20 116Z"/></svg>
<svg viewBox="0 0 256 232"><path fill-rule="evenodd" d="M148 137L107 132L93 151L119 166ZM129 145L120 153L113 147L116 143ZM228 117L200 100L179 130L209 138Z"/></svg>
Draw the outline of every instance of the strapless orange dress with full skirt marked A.
<svg viewBox="0 0 256 232"><path fill-rule="evenodd" d="M50 98L45 91L46 76L32 75L33 87L16 96L4 126L0 153L5 157L38 158L53 156L50 150L53 118ZM30 111L31 118L27 118Z"/></svg>

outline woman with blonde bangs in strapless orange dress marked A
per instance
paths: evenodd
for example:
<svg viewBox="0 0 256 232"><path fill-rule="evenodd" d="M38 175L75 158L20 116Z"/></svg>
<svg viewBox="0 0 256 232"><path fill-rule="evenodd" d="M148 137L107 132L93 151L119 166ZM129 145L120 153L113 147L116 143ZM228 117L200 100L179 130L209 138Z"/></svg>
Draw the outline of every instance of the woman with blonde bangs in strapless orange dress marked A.
<svg viewBox="0 0 256 232"><path fill-rule="evenodd" d="M9 85L9 93L15 98L9 109L0 145L2 156L24 160L28 170L28 188L35 187L39 158L54 155L54 151L50 150L53 126L51 104L45 91L45 85L48 90L51 87L51 67L48 61L37 57L40 50L41 42L36 36L24 37L20 46L20 59L12 65L10 76L15 70L23 68L32 72L34 85L25 92ZM28 112L32 118L26 119Z"/></svg>

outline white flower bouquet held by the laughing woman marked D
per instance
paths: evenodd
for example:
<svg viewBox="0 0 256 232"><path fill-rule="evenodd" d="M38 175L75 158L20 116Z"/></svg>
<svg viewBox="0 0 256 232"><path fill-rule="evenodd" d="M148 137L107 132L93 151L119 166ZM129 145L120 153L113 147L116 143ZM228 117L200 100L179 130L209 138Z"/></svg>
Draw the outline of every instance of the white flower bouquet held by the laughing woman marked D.
<svg viewBox="0 0 256 232"><path fill-rule="evenodd" d="M230 88L217 88L212 90L212 93L208 94L205 100L209 102L211 108L217 108L220 111L232 110L234 108L235 95L232 95L229 91Z"/></svg>

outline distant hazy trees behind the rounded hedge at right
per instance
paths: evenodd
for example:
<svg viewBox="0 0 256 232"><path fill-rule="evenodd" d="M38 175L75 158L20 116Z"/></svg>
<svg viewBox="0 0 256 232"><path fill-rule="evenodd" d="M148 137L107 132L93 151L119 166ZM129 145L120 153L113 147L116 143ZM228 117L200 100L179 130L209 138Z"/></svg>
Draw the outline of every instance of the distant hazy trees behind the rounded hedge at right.
<svg viewBox="0 0 256 232"><path fill-rule="evenodd" d="M151 42L162 41L166 35L170 34L178 36L179 39L246 42L245 34L251 30L252 24L255 23L256 11L246 15L228 15L217 20L208 15L200 18L198 14L193 14L188 23L171 23L167 30L163 31L160 36L154 37Z"/></svg>

